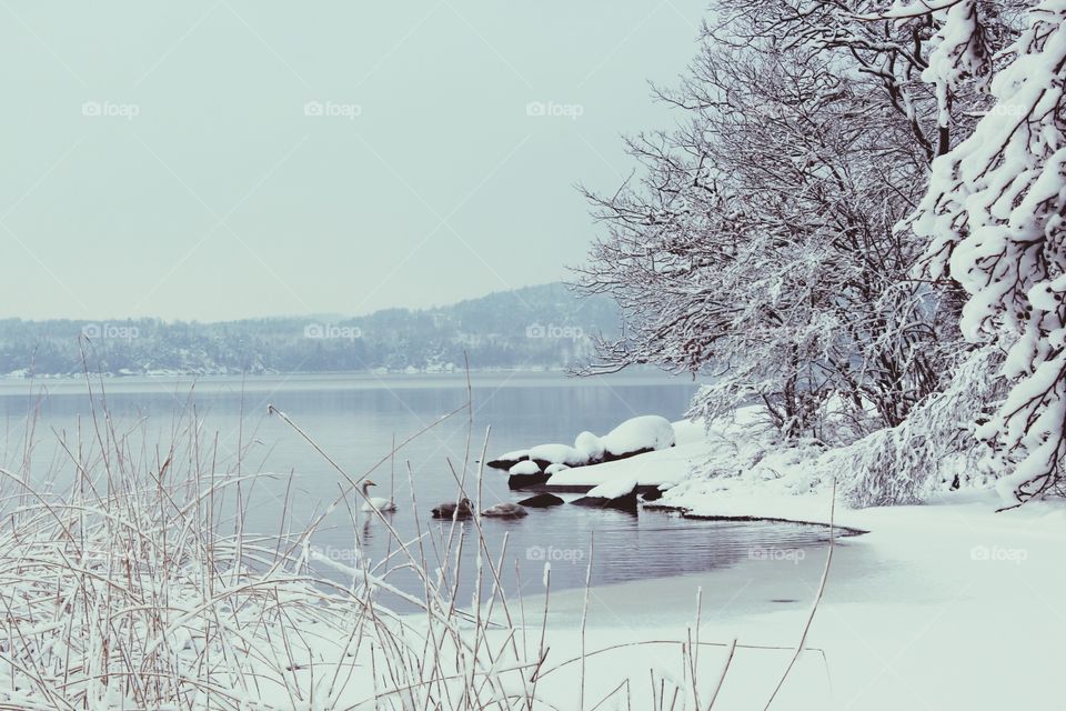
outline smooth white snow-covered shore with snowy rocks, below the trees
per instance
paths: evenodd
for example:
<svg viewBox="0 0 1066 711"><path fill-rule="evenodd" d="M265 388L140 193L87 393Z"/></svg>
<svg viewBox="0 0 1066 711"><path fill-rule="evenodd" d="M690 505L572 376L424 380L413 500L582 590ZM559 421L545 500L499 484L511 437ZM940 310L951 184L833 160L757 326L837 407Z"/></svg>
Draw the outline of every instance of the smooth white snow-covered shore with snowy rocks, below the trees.
<svg viewBox="0 0 1066 711"><path fill-rule="evenodd" d="M748 424L730 429L736 434ZM663 502L692 513L829 520L831 488L812 464L817 457L795 450L753 455L743 438L727 441L712 431L706 439L688 423L677 431L675 448L567 470L551 483L682 482ZM692 463L713 469L751 459L745 471L690 477ZM996 513L1000 505L993 491L945 493L912 507L851 509L838 500L837 524L868 533L835 547L806 642L825 657L802 654L773 708L1066 708L1053 681L1066 661L1066 614L1055 597L1066 583L1066 507L1034 502ZM702 641L794 647L826 551L772 551L705 574L596 588L587 620L595 644L589 647L686 639L697 589ZM583 604L583 591L554 595L552 628L572 629ZM676 655L677 647L664 649ZM701 654L705 678L716 678L725 648ZM762 709L790 657L787 649L738 649L715 708ZM673 657L647 645L596 663L603 669L590 665L589 679L597 685L646 680L648 668L665 673L673 665L678 673ZM638 693L648 693L650 682L643 687Z"/></svg>

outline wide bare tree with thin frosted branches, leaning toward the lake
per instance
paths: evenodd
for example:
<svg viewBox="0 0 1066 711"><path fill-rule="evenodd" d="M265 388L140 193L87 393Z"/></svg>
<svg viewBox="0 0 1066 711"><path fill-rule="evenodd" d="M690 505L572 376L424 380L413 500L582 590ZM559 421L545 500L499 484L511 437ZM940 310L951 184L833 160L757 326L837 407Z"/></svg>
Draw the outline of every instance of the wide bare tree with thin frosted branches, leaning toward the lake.
<svg viewBox="0 0 1066 711"><path fill-rule="evenodd" d="M827 48L822 30L772 37L744 4L723 3L732 24L707 28L690 76L661 92L683 128L630 141L638 180L591 196L606 236L582 284L627 317L597 365L711 373L697 413L755 398L788 437L895 427L954 351L949 294L911 279L922 243L893 230L935 153L918 138L934 94L887 90L875 56Z"/></svg>

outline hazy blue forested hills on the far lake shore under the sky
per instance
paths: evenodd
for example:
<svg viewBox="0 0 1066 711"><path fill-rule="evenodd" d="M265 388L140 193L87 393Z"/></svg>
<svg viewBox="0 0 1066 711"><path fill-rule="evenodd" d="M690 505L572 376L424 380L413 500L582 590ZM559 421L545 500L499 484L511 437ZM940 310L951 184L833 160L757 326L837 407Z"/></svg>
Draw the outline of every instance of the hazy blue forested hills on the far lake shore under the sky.
<svg viewBox="0 0 1066 711"><path fill-rule="evenodd" d="M606 298L554 283L434 310L220 323L0 320L0 374L190 374L567 368L615 333Z"/></svg>

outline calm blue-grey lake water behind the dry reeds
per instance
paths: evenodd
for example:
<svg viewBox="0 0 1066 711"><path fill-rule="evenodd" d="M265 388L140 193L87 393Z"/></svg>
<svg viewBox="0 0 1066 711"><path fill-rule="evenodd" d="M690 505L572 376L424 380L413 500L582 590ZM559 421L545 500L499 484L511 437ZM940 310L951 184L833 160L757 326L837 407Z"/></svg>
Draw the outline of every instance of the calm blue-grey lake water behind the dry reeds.
<svg viewBox="0 0 1066 711"><path fill-rule="evenodd" d="M194 385L194 387L193 387ZM402 441L443 413L465 402L464 375L403 377L291 377L192 380L113 379L105 383L107 404L115 421L133 425L148 423L154 434L165 438L175 419L194 417L210 440L218 433L221 469L229 468L239 441L252 442L244 459L244 471L275 472L275 479L257 484L245 528L249 531L276 532L285 509L293 529L311 521L339 493L343 479L323 457L276 417L266 415L268 403L285 412L353 478L385 455L393 435ZM471 460L480 457L485 428L492 427L489 454L543 442L573 442L582 430L605 433L619 422L637 414L662 414L680 419L695 385L691 381L660 375L613 375L575 380L555 373L480 373L472 375L474 425ZM86 429L90 414L84 383L38 381L38 397L31 398L29 384L0 381L0 417L3 418L0 462L17 465L23 457L27 413L38 407L37 440L32 469L59 471L64 468L53 431L74 432L79 415ZM390 464L373 479L380 485L373 495L388 497L394 481L400 511L390 517L392 525L405 539L419 531L431 534L423 540L433 558L450 523L430 518L430 509L455 499L456 484L449 469L451 461L461 471L466 449L466 414L431 430L411 442L396 458L395 478ZM154 443L151 437L149 441ZM162 441L162 440L161 440ZM418 515L411 513L411 485L418 499ZM472 474L471 474L472 482ZM483 482L485 505L497 501L517 501L529 495L512 492L506 475L486 470ZM564 497L567 498L567 497ZM572 498L572 497L569 497ZM594 584L657 578L678 572L703 571L747 559L766 548L817 545L824 541L819 529L791 524L712 522L683 520L674 514L642 511L632 515L615 511L591 511L579 507L531 510L517 521L485 520L483 523L495 558L509 533L506 560L507 588L533 591L541 585L543 561L552 562L552 587L584 584L590 539L594 537ZM326 557L348 563L356 548L372 561L386 559L395 544L389 544L383 523L372 514L360 513L352 521L345 509L331 514L313 538L313 544ZM464 567L473 567L474 547L464 549ZM521 572L514 571L517 561ZM394 559L392 564L401 562ZM385 563L386 567L389 562ZM340 577L339 573L334 573ZM392 579L404 588L415 582L403 571ZM464 588L469 588L469 579Z"/></svg>

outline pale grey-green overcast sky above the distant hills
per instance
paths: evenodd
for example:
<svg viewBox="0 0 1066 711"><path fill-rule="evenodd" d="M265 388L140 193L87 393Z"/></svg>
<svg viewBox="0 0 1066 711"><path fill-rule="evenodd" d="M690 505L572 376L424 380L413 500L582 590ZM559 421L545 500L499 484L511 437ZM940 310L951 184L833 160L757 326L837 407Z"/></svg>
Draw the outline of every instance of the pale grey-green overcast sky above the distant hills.
<svg viewBox="0 0 1066 711"><path fill-rule="evenodd" d="M544 283L704 0L0 3L0 318L429 308Z"/></svg>

